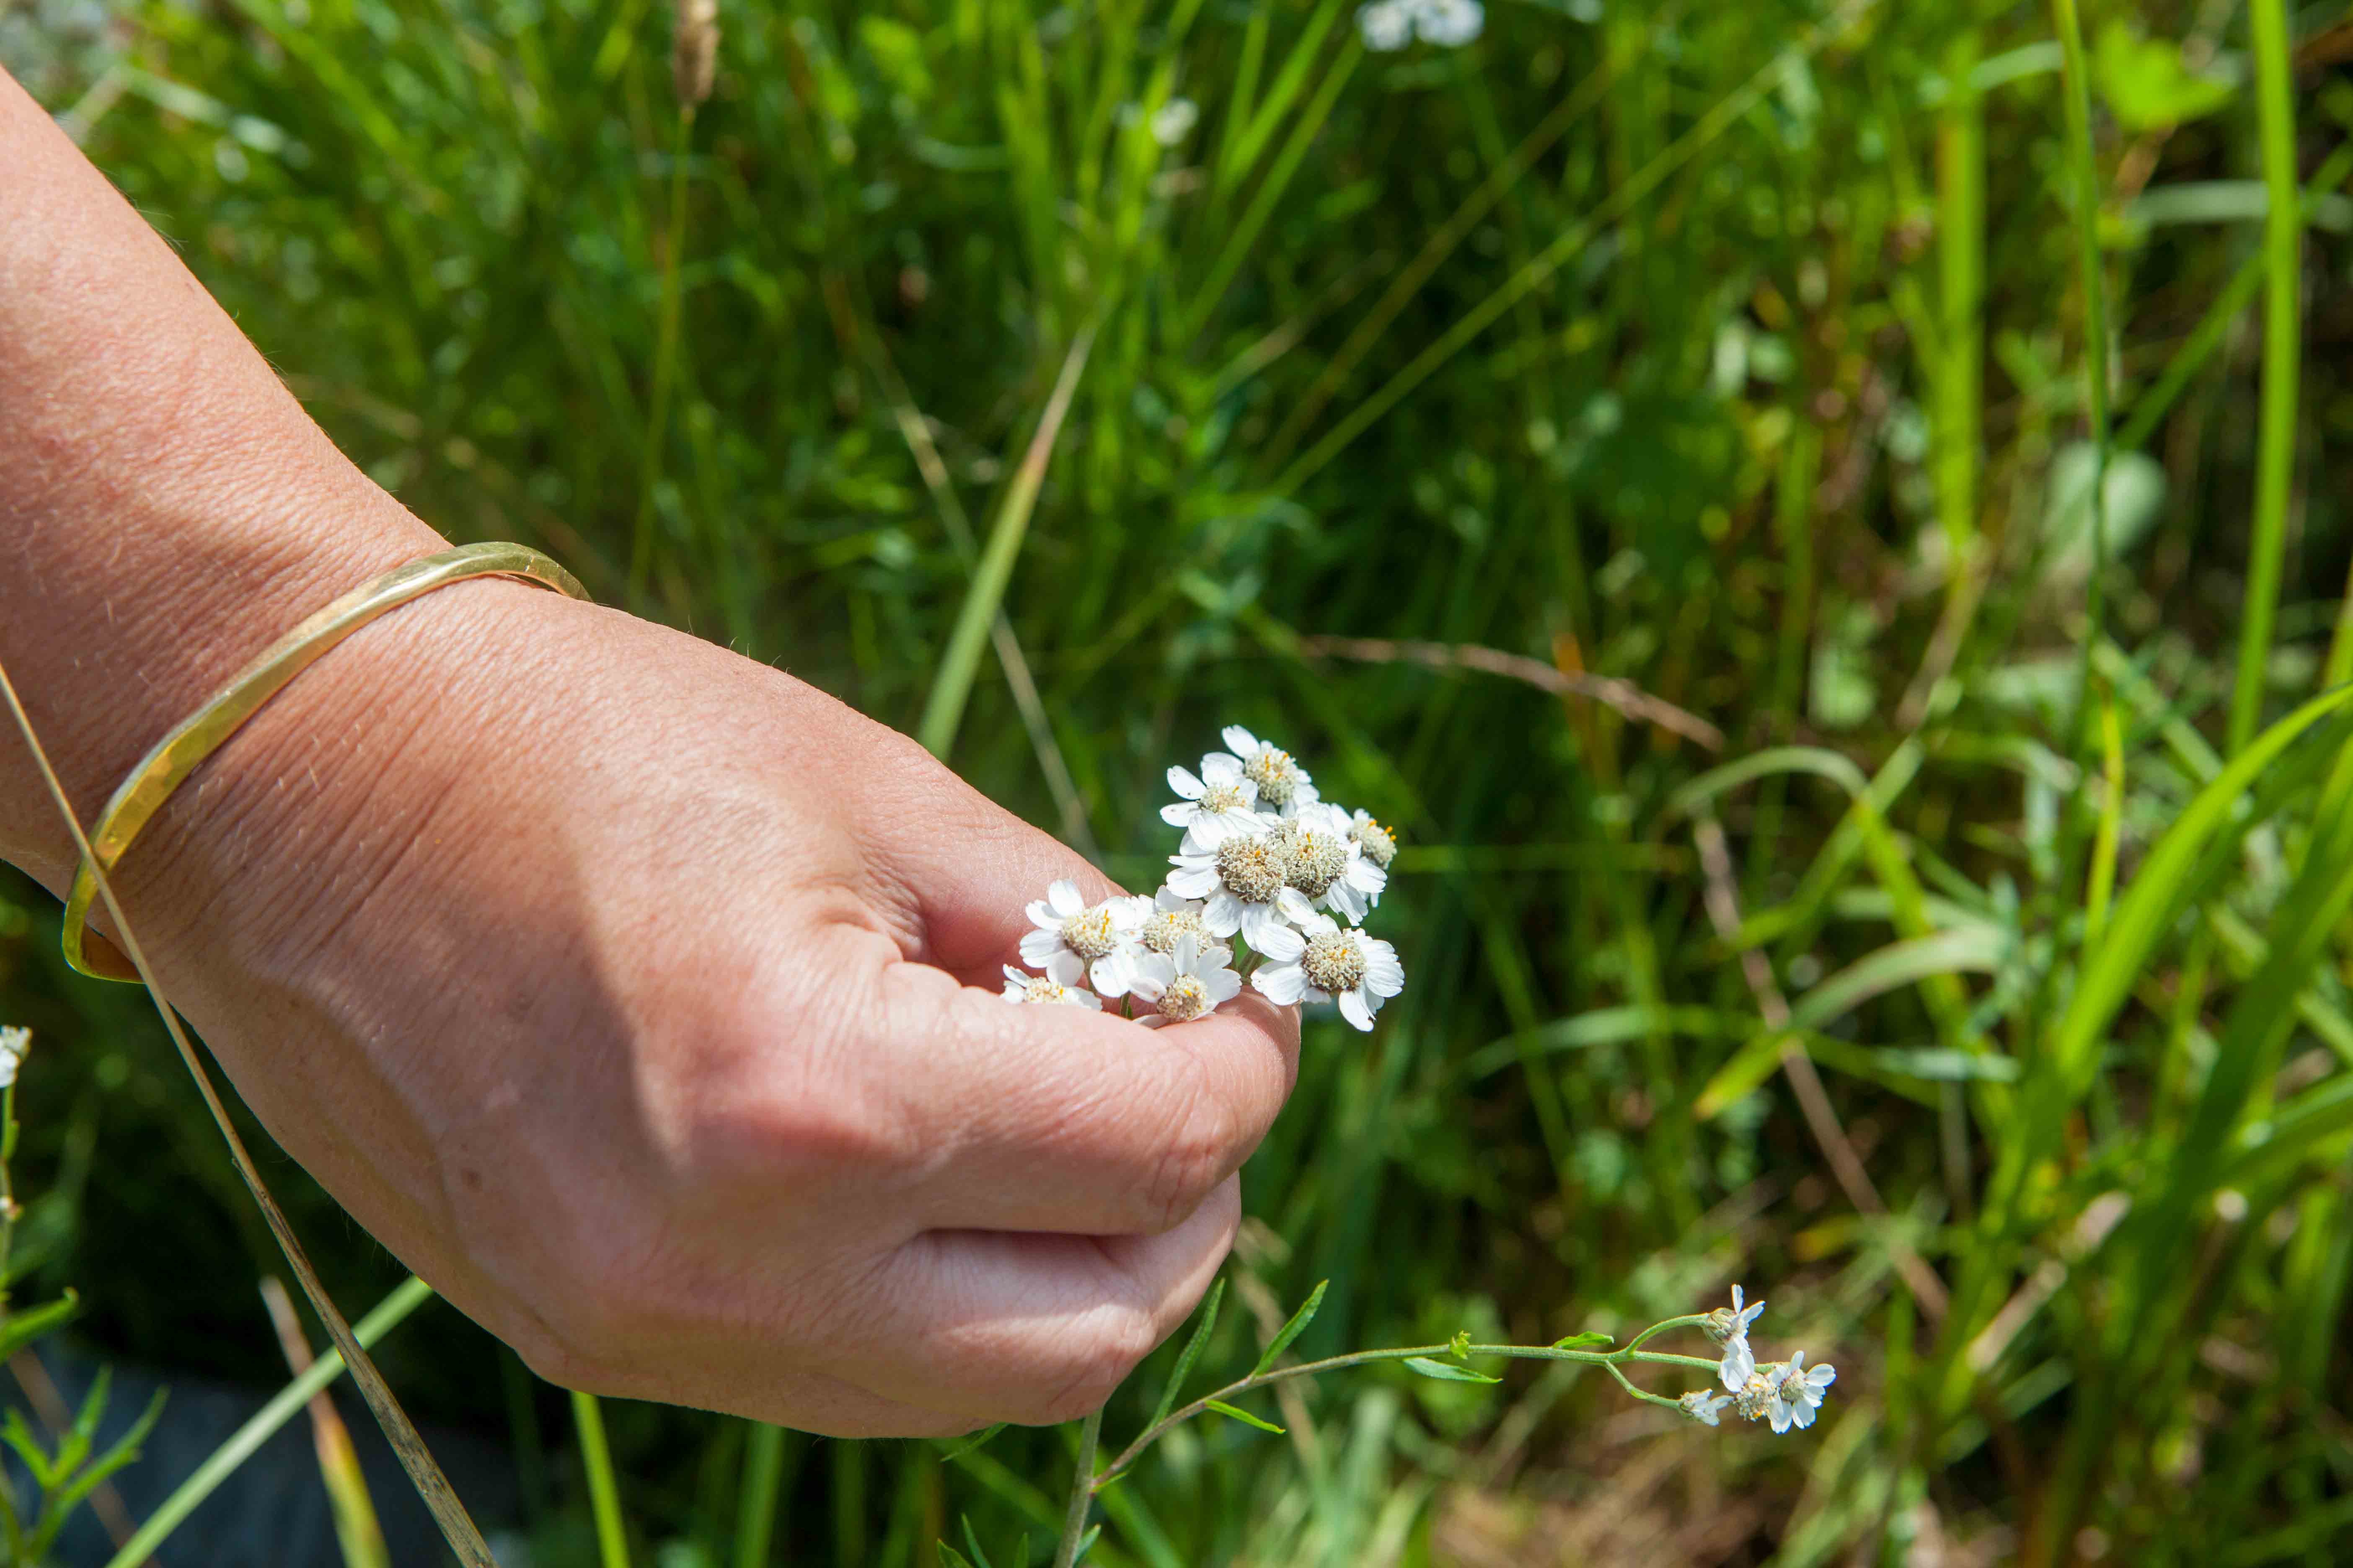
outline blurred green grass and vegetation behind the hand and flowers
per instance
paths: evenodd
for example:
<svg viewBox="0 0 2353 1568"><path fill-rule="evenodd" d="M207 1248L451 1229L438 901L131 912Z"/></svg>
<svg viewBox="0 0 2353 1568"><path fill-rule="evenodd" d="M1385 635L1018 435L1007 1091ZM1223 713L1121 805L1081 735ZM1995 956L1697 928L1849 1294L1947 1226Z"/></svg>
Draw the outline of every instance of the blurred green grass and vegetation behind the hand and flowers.
<svg viewBox="0 0 2353 1568"><path fill-rule="evenodd" d="M1212 1366L1318 1279L1304 1354L1741 1279L1840 1366L1800 1441L1577 1368L1292 1385L1089 1561L2344 1561L2353 785L2334 696L2249 736L2353 672L2348 7L720 26L687 118L649 0L0 12L447 534L922 726L1129 884L1228 719L1400 825L1414 983L1308 1025ZM282 1380L268 1239L54 922L12 886L61 1194L19 1258L106 1354ZM275 1175L353 1309L398 1281ZM534 1563L593 1561L560 1394L445 1307L384 1361L513 1443ZM748 1561L746 1427L607 1418L647 1561ZM791 1439L774 1561L934 1563L965 1514L1005 1561L1066 1455Z"/></svg>

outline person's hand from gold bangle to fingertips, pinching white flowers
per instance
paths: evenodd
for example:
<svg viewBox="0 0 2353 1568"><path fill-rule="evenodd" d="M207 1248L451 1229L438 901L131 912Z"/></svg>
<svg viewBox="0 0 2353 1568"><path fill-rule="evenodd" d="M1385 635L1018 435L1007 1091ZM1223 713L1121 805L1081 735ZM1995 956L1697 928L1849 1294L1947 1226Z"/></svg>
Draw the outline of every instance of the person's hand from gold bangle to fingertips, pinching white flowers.
<svg viewBox="0 0 2353 1568"><path fill-rule="evenodd" d="M482 581L301 675L118 889L271 1133L541 1375L878 1436L1101 1403L1289 1093L1254 992L1005 1004L1054 877L1113 891L776 670Z"/></svg>

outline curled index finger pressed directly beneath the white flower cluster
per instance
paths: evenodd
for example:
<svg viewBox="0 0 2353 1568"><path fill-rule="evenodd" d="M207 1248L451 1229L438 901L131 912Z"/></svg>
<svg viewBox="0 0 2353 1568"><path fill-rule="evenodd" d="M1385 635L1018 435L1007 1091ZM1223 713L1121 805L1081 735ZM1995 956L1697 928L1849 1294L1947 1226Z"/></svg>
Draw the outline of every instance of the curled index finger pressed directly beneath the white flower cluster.
<svg viewBox="0 0 2353 1568"><path fill-rule="evenodd" d="M1148 1237L1240 1171L1289 1095L1297 1016L1261 997L1165 1030L1014 1006L920 964L882 978L932 1227Z"/></svg>

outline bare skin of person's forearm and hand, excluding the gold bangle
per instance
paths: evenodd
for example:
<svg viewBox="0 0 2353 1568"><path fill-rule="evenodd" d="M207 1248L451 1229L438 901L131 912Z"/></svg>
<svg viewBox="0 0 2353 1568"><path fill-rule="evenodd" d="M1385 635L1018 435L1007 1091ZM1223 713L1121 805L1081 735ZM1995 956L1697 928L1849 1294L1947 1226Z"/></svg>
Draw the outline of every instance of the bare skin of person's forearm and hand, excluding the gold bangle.
<svg viewBox="0 0 2353 1568"><path fill-rule="evenodd" d="M445 541L5 73L0 169L0 663L89 823ZM14 726L0 856L73 872ZM468 581L296 677L113 882L271 1133L544 1378L880 1436L1101 1403L1292 1086L1254 992L1158 1032L1007 1006L1054 877L1113 891L821 691Z"/></svg>

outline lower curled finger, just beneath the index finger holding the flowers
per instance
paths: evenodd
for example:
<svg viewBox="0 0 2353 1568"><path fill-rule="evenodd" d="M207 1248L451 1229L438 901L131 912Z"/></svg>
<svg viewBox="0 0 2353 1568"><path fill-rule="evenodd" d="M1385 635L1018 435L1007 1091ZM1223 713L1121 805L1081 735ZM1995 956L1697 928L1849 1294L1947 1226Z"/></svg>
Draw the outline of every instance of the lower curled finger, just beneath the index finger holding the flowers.
<svg viewBox="0 0 2353 1568"><path fill-rule="evenodd" d="M927 1232L878 1276L875 1394L1047 1425L1101 1408L1193 1312L1233 1244L1228 1178L1160 1237ZM861 1373L864 1375L864 1373Z"/></svg>

